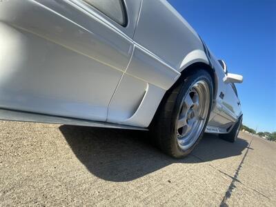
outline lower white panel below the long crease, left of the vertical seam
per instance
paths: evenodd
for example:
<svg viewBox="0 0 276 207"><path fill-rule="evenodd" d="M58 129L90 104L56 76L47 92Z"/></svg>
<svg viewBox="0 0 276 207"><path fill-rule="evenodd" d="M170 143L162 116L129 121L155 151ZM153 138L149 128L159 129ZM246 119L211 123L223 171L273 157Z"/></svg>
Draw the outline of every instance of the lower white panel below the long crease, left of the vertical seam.
<svg viewBox="0 0 276 207"><path fill-rule="evenodd" d="M0 40L5 51L1 108L106 120L108 103L122 72L28 32L4 24L0 24L0 31L6 34L5 41Z"/></svg>

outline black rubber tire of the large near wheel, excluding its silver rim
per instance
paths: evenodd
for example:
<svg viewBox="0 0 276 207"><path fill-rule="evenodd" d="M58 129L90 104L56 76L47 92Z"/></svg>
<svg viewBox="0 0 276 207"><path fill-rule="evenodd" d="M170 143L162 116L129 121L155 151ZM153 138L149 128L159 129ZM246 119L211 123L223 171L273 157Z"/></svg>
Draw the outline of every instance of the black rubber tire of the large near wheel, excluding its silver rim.
<svg viewBox="0 0 276 207"><path fill-rule="evenodd" d="M184 97L188 93L188 90L190 90L190 86L193 86L193 84L197 83L197 81L204 81L208 83L210 91L208 114L203 129L197 137L195 144L186 150L182 150L179 147L179 144L177 144L176 121L178 120ZM201 137L204 135L212 102L213 80L206 70L194 70L182 75L177 83L175 83L175 86L172 86L172 88L166 92L166 95L162 99L155 117L152 120L152 124L150 125L150 136L152 137L154 144L171 157L181 158L188 155L195 148L195 146L197 146Z"/></svg>

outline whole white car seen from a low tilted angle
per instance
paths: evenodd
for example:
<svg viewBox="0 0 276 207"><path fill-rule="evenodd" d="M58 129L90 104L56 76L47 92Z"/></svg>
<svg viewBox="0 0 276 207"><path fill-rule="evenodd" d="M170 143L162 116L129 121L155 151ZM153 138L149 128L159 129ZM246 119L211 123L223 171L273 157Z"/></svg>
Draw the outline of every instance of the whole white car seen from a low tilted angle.
<svg viewBox="0 0 276 207"><path fill-rule="evenodd" d="M172 157L237 139L242 76L165 0L1 1L0 37L0 119L150 130Z"/></svg>

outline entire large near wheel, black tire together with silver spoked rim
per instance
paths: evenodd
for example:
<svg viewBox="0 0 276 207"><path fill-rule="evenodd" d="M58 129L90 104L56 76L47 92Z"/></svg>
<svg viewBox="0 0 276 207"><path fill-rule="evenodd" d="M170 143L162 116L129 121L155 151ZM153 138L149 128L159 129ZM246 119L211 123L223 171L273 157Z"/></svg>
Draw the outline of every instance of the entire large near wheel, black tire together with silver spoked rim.
<svg viewBox="0 0 276 207"><path fill-rule="evenodd" d="M206 70L181 77L166 92L150 125L154 144L176 158L185 157L199 143L213 101L213 80Z"/></svg>

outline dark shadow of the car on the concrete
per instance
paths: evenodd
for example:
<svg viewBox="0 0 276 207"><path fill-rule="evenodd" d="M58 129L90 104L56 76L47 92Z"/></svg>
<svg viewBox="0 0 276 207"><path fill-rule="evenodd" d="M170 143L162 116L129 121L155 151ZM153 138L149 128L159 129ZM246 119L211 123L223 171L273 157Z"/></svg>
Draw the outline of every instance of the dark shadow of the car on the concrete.
<svg viewBox="0 0 276 207"><path fill-rule="evenodd" d="M149 133L63 125L59 130L72 152L86 168L107 181L130 181L173 163L199 163L241 155L248 146L244 139L235 144L215 135L204 135L193 153L173 159L150 144Z"/></svg>

